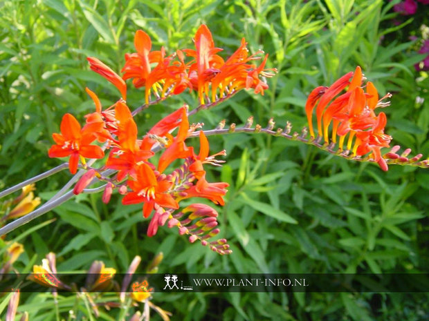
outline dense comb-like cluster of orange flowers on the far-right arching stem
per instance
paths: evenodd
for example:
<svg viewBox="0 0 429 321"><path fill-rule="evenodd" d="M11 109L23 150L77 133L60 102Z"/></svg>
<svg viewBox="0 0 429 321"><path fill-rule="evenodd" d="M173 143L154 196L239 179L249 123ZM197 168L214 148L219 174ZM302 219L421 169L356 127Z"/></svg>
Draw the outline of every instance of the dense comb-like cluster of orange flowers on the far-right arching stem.
<svg viewBox="0 0 429 321"><path fill-rule="evenodd" d="M352 75L353 78L350 80ZM358 156L372 152L374 160L378 162L383 171L387 171L387 164L381 157L381 148L388 147L392 137L384 133L387 122L385 114L380 113L376 116L374 109L379 106L389 106L389 103L382 101L384 98L390 97L390 94L378 100L377 90L370 81L366 84L365 93L362 88L363 79L362 70L357 66L354 72L348 72L335 81L331 87L318 87L311 92L305 108L310 135L314 137L311 123L312 112L319 101L316 108L318 131L319 135L323 135L325 138L325 143L329 143L329 125L333 121L332 142L336 143L338 135L340 150L343 149L345 137L348 135L348 150L352 150L352 153ZM347 92L334 99L347 86L349 86ZM332 99L334 101L330 102Z"/></svg>

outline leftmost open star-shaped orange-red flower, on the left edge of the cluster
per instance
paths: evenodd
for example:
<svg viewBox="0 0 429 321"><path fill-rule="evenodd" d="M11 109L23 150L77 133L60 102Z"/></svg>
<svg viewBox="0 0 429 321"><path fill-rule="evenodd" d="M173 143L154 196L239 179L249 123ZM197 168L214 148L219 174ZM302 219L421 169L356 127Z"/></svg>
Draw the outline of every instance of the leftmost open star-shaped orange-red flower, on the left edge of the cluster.
<svg viewBox="0 0 429 321"><path fill-rule="evenodd" d="M86 127L80 128L79 122L71 114L66 114L61 121L61 134L54 133L53 140L57 145L53 145L48 152L49 157L67 157L69 159L69 169L72 174L77 171L79 157L102 158L104 152L100 146L90 145L95 140L93 129L100 131L99 128ZM95 126L93 126L95 127Z"/></svg>

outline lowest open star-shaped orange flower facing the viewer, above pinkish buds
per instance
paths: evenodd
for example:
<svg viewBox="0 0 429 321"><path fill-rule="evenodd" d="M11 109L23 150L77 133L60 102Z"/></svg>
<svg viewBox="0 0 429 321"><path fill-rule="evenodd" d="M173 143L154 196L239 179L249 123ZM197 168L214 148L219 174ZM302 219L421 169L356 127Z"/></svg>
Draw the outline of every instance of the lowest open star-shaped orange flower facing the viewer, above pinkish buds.
<svg viewBox="0 0 429 321"><path fill-rule="evenodd" d="M166 193L172 186L172 182L163 179L161 176L155 176L152 168L147 164L142 164L137 168L137 180L129 180L128 186L133 192L128 193L122 199L122 204L143 204L143 215L148 217L155 204L167 208L179 208L179 204L174 200L172 195Z"/></svg>

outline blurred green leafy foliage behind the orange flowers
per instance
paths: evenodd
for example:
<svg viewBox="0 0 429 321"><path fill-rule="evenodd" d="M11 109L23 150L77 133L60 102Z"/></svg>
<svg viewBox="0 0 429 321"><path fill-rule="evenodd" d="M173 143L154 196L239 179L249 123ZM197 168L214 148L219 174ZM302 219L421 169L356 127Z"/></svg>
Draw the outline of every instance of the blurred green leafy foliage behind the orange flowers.
<svg viewBox="0 0 429 321"><path fill-rule="evenodd" d="M152 37L153 48L167 53L193 48L201 23L212 31L226 57L246 37L251 52L270 54L265 95L242 91L190 121L214 128L226 119L244 124L253 115L265 126L289 120L300 132L304 104L316 86L329 86L360 65L381 95L393 93L385 108L393 144L429 155L429 81L414 64L421 25L428 17L399 23L392 6L381 0L8 0L0 3L0 188L59 164L49 159L51 134L64 113L80 117L93 110L85 86L103 106L116 101L116 89L91 72L87 56L120 71L126 52L134 51L134 32ZM428 7L419 3L421 10ZM426 20L424 20L426 19ZM410 40L409 35L416 37ZM143 103L141 90L129 90L131 109ZM183 101L185 93L152 106L136 121L143 135ZM79 118L78 118L79 119ZM30 271L49 252L57 253L58 271L89 269L93 260L125 273L135 255L149 262L163 252L160 273L419 273L429 261L429 173L349 162L311 146L262 134L210 137L213 152L225 148L226 165L210 172L212 181L230 184L227 204L219 208L221 236L232 255L219 256L190 244L176 231L161 228L145 235L148 220L141 206L122 206L113 195L79 195L7 235L24 244L15 263ZM37 183L48 200L70 178L63 171ZM57 218L55 222L42 224ZM41 225L42 224L42 225ZM32 228L30 230L30 228ZM28 233L26 233L28 232ZM154 295L172 311L172 320L427 320L426 294L410 293L174 293ZM63 302L64 301L64 302ZM51 295L33 293L18 311L30 320L55 320ZM58 298L67 315L74 302ZM91 320L77 309L77 320ZM65 313L65 314L64 314ZM114 310L100 320L116 320ZM157 320L158 316L154 316Z"/></svg>

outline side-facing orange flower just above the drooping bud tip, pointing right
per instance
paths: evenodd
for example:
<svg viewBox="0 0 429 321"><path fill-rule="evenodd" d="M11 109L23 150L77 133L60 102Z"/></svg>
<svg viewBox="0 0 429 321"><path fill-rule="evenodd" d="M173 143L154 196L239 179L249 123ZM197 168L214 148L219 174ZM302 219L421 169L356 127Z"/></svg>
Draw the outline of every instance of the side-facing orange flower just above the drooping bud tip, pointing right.
<svg viewBox="0 0 429 321"><path fill-rule="evenodd" d="M206 181L206 174L201 176L198 180L197 184L188 188L184 193L185 196L179 197L179 200L184 200L190 197L203 197L215 204L219 204L221 206L225 205L225 201L223 200L223 196L226 194L227 188L229 186L228 183L208 183ZM179 200L177 200L179 202Z"/></svg>

